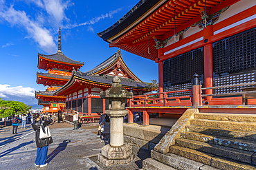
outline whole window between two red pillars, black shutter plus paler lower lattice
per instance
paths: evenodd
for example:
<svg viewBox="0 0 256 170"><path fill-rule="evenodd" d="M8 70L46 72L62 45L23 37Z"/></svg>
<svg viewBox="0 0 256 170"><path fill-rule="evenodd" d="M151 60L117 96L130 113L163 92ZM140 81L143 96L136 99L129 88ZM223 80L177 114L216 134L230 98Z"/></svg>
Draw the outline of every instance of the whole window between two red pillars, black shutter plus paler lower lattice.
<svg viewBox="0 0 256 170"><path fill-rule="evenodd" d="M192 88L191 80L195 73L203 74L203 47L163 61L164 91ZM203 78L200 79L202 84ZM168 97L174 96L190 96L190 92L168 94Z"/></svg>

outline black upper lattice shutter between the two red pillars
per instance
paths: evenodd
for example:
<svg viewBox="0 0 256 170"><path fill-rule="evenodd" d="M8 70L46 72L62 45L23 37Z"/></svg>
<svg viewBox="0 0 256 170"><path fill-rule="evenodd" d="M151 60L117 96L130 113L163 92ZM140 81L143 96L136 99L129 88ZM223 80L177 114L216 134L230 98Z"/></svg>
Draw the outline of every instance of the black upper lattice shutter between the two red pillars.
<svg viewBox="0 0 256 170"><path fill-rule="evenodd" d="M163 61L165 86L189 83L195 73L203 74L203 47Z"/></svg>

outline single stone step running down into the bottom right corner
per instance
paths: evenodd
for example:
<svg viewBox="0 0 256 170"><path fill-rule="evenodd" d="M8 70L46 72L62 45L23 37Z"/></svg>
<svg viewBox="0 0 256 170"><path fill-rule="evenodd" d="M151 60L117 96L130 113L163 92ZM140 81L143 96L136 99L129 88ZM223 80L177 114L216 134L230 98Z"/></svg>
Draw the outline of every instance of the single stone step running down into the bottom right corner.
<svg viewBox="0 0 256 170"><path fill-rule="evenodd" d="M210 153L203 153L193 149L188 149L185 147L172 146L170 151L179 156L189 158L191 160L196 160L203 164L208 164L200 168L200 170L213 170L213 169L223 169L223 170L256 170L256 167L252 164L246 164L244 162L238 162L228 158L223 158L221 156L214 156ZM214 167L214 168L213 168Z"/></svg>

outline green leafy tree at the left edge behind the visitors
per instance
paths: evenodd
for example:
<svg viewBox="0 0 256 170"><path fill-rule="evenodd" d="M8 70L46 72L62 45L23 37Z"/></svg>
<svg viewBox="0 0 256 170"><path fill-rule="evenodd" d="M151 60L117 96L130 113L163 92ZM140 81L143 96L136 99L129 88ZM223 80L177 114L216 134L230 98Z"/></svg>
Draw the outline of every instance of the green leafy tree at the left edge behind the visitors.
<svg viewBox="0 0 256 170"><path fill-rule="evenodd" d="M3 109L2 107L9 107L10 109ZM23 102L13 100L3 100L0 98L0 117L6 118L12 114L24 114L31 109L30 105Z"/></svg>

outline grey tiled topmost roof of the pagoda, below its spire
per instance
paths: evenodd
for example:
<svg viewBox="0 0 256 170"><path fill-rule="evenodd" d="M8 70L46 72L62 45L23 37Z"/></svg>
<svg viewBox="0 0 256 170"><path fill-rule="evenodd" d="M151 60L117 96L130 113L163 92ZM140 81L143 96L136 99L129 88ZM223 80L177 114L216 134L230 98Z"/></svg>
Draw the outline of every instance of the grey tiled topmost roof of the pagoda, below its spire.
<svg viewBox="0 0 256 170"><path fill-rule="evenodd" d="M63 63L70 63L70 64L75 64L75 65L84 65L84 62L81 63L80 61L74 61L74 60L68 58L67 56L65 56L63 54L63 52L57 52L56 54L51 54L51 55L45 55L45 54L38 53L38 57L39 56L41 56L45 59L53 60L53 61L60 61ZM38 62L39 62L39 60L38 60Z"/></svg>

